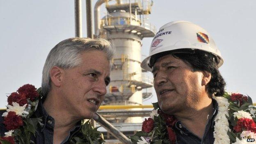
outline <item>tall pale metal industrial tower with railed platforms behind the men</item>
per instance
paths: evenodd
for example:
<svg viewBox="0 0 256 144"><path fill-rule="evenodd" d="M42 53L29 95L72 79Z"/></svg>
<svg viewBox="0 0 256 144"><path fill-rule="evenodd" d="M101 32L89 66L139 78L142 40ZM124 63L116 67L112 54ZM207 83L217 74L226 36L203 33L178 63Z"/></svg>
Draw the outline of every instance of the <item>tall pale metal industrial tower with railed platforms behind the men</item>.
<svg viewBox="0 0 256 144"><path fill-rule="evenodd" d="M107 14L100 19L100 6L104 2ZM155 27L148 23L152 5L151 0L96 2L95 35L109 40L116 48L111 62L111 82L103 105L142 105L143 99L152 95L149 88L153 86L153 81L142 73L140 67L142 39L155 35ZM107 120L117 127L140 123L138 127L127 130L141 129L141 117L113 117Z"/></svg>

